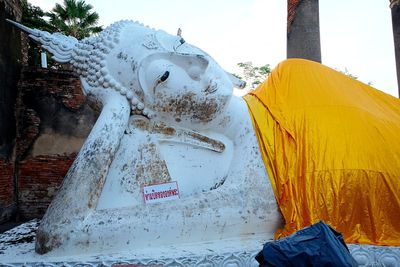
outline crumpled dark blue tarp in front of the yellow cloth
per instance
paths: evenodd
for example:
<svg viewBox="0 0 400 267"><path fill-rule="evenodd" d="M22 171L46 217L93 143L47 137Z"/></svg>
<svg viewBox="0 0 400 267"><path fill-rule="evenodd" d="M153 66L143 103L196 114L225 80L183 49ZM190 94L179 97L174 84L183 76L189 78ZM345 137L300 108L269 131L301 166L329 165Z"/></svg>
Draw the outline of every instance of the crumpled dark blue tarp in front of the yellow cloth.
<svg viewBox="0 0 400 267"><path fill-rule="evenodd" d="M267 242L256 260L264 266L358 266L340 233L323 221Z"/></svg>

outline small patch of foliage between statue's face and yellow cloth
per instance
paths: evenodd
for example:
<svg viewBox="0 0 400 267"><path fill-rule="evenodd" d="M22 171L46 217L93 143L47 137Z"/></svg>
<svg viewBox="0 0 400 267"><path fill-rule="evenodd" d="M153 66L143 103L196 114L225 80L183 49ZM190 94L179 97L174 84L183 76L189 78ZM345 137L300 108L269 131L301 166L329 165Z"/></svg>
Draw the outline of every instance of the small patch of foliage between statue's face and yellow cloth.
<svg viewBox="0 0 400 267"><path fill-rule="evenodd" d="M240 62L237 65L241 69L243 78L237 74L234 74L234 76L246 81L247 89L254 89L255 87L257 87L257 85L262 83L271 73L271 68L269 64L257 67L254 66L251 61L247 61Z"/></svg>

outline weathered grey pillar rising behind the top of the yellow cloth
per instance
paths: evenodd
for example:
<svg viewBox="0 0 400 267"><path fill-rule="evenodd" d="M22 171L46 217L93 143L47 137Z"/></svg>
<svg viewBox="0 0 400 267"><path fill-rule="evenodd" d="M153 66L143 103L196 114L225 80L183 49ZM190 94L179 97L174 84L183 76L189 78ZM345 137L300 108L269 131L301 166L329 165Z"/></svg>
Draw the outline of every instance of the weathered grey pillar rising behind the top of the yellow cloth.
<svg viewBox="0 0 400 267"><path fill-rule="evenodd" d="M321 62L318 0L288 0L287 58Z"/></svg>

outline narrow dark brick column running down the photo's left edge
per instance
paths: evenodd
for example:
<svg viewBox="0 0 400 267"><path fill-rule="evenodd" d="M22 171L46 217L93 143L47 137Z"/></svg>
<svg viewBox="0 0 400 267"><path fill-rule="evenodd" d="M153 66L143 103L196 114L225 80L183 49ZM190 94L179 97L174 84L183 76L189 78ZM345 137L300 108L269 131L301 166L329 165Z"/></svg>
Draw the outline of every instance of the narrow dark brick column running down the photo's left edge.
<svg viewBox="0 0 400 267"><path fill-rule="evenodd" d="M21 12L18 0L0 0L0 223L16 210L11 155L15 139L16 85L21 68L21 34L5 19L20 21Z"/></svg>

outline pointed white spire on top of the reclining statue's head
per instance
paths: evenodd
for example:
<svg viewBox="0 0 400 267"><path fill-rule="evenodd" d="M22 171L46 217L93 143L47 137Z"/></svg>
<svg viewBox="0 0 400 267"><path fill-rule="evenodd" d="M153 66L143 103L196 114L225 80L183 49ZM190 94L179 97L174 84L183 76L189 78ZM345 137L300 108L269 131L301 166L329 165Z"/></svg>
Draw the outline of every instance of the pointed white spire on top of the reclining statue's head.
<svg viewBox="0 0 400 267"><path fill-rule="evenodd" d="M70 62L72 52L79 41L72 36L61 33L49 33L38 29L31 29L15 21L6 19L9 23L29 34L29 37L41 44L42 48L53 54L53 59L60 63Z"/></svg>

